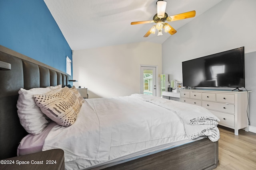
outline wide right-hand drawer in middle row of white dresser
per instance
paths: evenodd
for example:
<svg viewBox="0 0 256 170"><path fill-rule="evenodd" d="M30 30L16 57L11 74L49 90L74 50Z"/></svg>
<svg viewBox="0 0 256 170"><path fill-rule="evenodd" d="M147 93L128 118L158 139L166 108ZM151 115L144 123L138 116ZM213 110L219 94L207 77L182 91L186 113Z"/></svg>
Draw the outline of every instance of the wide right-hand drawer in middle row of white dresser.
<svg viewBox="0 0 256 170"><path fill-rule="evenodd" d="M235 106L233 104L202 101L202 106L206 109L224 111L232 114L235 113Z"/></svg>

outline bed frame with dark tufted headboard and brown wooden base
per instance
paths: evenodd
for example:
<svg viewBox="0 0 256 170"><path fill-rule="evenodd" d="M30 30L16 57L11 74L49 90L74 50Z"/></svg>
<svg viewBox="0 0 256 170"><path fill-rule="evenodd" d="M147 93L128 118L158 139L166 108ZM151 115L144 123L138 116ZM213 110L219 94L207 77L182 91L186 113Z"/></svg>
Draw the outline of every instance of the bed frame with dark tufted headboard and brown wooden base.
<svg viewBox="0 0 256 170"><path fill-rule="evenodd" d="M46 64L0 45L0 61L10 63L11 70L0 70L0 159L17 156L17 147L27 132L17 114L20 88L70 84L72 77ZM211 170L218 166L218 141L204 138L173 149L164 150L105 169L190 169ZM106 167L106 166L104 166Z"/></svg>

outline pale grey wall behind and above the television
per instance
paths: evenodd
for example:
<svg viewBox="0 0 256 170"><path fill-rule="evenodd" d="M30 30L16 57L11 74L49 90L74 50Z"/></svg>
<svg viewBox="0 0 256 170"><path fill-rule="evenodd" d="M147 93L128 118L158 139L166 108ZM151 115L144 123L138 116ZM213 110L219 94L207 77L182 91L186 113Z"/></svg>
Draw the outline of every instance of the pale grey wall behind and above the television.
<svg viewBox="0 0 256 170"><path fill-rule="evenodd" d="M162 73L182 81L182 61L245 47L250 123L256 127L256 0L222 0L162 44ZM253 74L252 74L253 73Z"/></svg>

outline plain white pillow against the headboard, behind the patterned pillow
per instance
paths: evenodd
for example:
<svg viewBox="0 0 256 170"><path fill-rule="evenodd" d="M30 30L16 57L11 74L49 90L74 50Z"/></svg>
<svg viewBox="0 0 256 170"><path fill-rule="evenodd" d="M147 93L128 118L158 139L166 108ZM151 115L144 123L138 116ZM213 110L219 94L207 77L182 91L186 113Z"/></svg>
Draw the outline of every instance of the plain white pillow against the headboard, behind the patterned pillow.
<svg viewBox="0 0 256 170"><path fill-rule="evenodd" d="M61 85L47 88L32 88L19 90L17 102L17 112L20 118L20 124L24 129L33 135L41 133L48 124L48 117L42 113L34 101L35 94L46 94L54 89L61 88Z"/></svg>

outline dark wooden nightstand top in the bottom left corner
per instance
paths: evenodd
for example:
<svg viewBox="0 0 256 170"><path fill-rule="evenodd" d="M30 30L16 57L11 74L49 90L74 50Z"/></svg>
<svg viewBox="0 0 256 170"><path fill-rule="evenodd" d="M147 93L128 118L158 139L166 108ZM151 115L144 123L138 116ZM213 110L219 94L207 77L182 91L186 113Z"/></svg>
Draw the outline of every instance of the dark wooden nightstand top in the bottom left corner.
<svg viewBox="0 0 256 170"><path fill-rule="evenodd" d="M65 170L64 151L52 149L3 159L1 170Z"/></svg>

